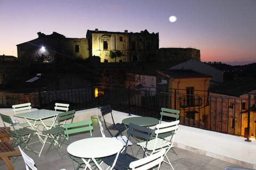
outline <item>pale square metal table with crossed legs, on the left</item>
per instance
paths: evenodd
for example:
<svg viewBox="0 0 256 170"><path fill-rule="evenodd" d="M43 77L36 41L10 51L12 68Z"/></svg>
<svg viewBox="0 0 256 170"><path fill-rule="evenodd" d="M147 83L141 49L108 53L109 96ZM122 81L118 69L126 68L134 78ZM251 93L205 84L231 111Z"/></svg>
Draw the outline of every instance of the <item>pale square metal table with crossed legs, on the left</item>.
<svg viewBox="0 0 256 170"><path fill-rule="evenodd" d="M42 136L45 137L45 135L42 134L42 132L38 129L38 125L43 125L43 127L45 129L51 129L52 126L54 125L59 113L61 113L61 112L47 110L47 109L39 109L39 110L36 110L36 111L31 111L31 112L20 113L20 114L15 114L14 115L16 117L25 118L25 120L28 122L30 127L34 130L37 130L36 134L39 138L39 141L43 144L43 146L42 146L42 148L39 152L35 151L35 152L39 153L39 156L42 153L42 150L44 148L44 142L46 142L46 141L42 139ZM44 120L47 119L47 118L51 118L51 117L53 118L52 125L51 126L46 126L44 124ZM40 123L37 123L38 121Z"/></svg>

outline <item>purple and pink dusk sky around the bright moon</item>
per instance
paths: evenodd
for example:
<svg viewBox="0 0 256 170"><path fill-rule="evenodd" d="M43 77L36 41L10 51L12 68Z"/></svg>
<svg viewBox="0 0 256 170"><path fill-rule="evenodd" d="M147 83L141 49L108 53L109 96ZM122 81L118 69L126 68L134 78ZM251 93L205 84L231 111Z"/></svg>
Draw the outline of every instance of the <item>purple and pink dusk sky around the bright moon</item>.
<svg viewBox="0 0 256 170"><path fill-rule="evenodd" d="M255 0L0 0L0 55L53 31L85 38L87 30L159 33L159 48L196 48L201 61L256 62ZM177 21L170 22L170 16Z"/></svg>

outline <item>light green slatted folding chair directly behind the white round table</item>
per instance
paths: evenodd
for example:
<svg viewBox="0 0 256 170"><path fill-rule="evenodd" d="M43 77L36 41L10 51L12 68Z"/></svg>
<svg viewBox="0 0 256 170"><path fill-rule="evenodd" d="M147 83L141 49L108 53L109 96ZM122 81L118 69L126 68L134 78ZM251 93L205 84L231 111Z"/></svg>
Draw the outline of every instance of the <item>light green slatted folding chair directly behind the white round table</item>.
<svg viewBox="0 0 256 170"><path fill-rule="evenodd" d="M70 144L69 135L79 133L79 132L90 132L90 136L92 137L92 131L93 131L93 125L92 121L83 121L83 122L76 122L76 123L68 123L63 125L63 128L65 129L66 138L68 141L68 144ZM73 160L73 166L74 169L79 169L80 167L84 168L82 165L85 163L83 160L79 157L75 157L73 155L69 154L69 157ZM97 161L101 162L101 159L97 159ZM78 164L77 167L75 167L74 162Z"/></svg>

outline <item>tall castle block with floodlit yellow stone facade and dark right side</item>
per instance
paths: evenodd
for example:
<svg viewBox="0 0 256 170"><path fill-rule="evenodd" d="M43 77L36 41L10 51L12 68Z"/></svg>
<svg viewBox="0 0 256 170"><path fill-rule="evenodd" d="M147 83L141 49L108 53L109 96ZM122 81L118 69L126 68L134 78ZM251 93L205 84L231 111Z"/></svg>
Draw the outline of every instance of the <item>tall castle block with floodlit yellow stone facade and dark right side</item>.
<svg viewBox="0 0 256 170"><path fill-rule="evenodd" d="M154 61L159 48L158 33L110 32L87 30L89 55L99 56L101 62Z"/></svg>

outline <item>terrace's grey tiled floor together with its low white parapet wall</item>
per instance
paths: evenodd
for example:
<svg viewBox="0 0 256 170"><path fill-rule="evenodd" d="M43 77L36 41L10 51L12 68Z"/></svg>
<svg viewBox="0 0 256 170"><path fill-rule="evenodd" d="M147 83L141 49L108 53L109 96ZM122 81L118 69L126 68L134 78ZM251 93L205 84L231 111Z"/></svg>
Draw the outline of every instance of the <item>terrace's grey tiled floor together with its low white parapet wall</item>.
<svg viewBox="0 0 256 170"><path fill-rule="evenodd" d="M0 113L13 115L12 109L0 109ZM74 122L90 120L92 115L99 113L98 108L86 109L77 111L75 113ZM127 113L113 111L115 121L121 122L123 118L129 116ZM134 115L131 115L134 116ZM17 117L15 117L17 118ZM108 118L108 117L107 117ZM21 122L23 120L20 120ZM3 126L0 122L0 126ZM101 137L99 125L93 125L93 137ZM109 137L108 132L105 134ZM89 133L82 133L73 135L70 138L71 142L79 139L89 138ZM36 140L37 137L33 137L32 140ZM169 158L172 162L174 169L224 169L226 166L235 167L247 167L256 169L255 154L251 150L256 149L256 143L245 142L245 138L235 137L232 135L205 131L202 129L191 128L188 126L179 126L175 138L175 148L177 155L169 152ZM135 143L135 141L132 141ZM38 150L39 145L31 145ZM97 146L94 146L97 147ZM138 150L137 145L133 145L133 150ZM47 146L46 146L47 148ZM52 148L53 149L53 148ZM25 152L34 159L38 169L61 169L66 168L74 169L71 159L68 155L65 155L63 159L60 158L58 153L53 149L47 154L44 149L42 155L38 157L33 152L25 150ZM62 154L67 153L67 146L63 146L60 149ZM130 152L130 150L128 150ZM139 157L141 154L139 155ZM15 169L25 169L25 164L22 157L19 157L13 163ZM103 167L106 165L102 165ZM0 162L0 169L7 169L5 164ZM171 167L165 163L162 164L161 169L171 169Z"/></svg>

